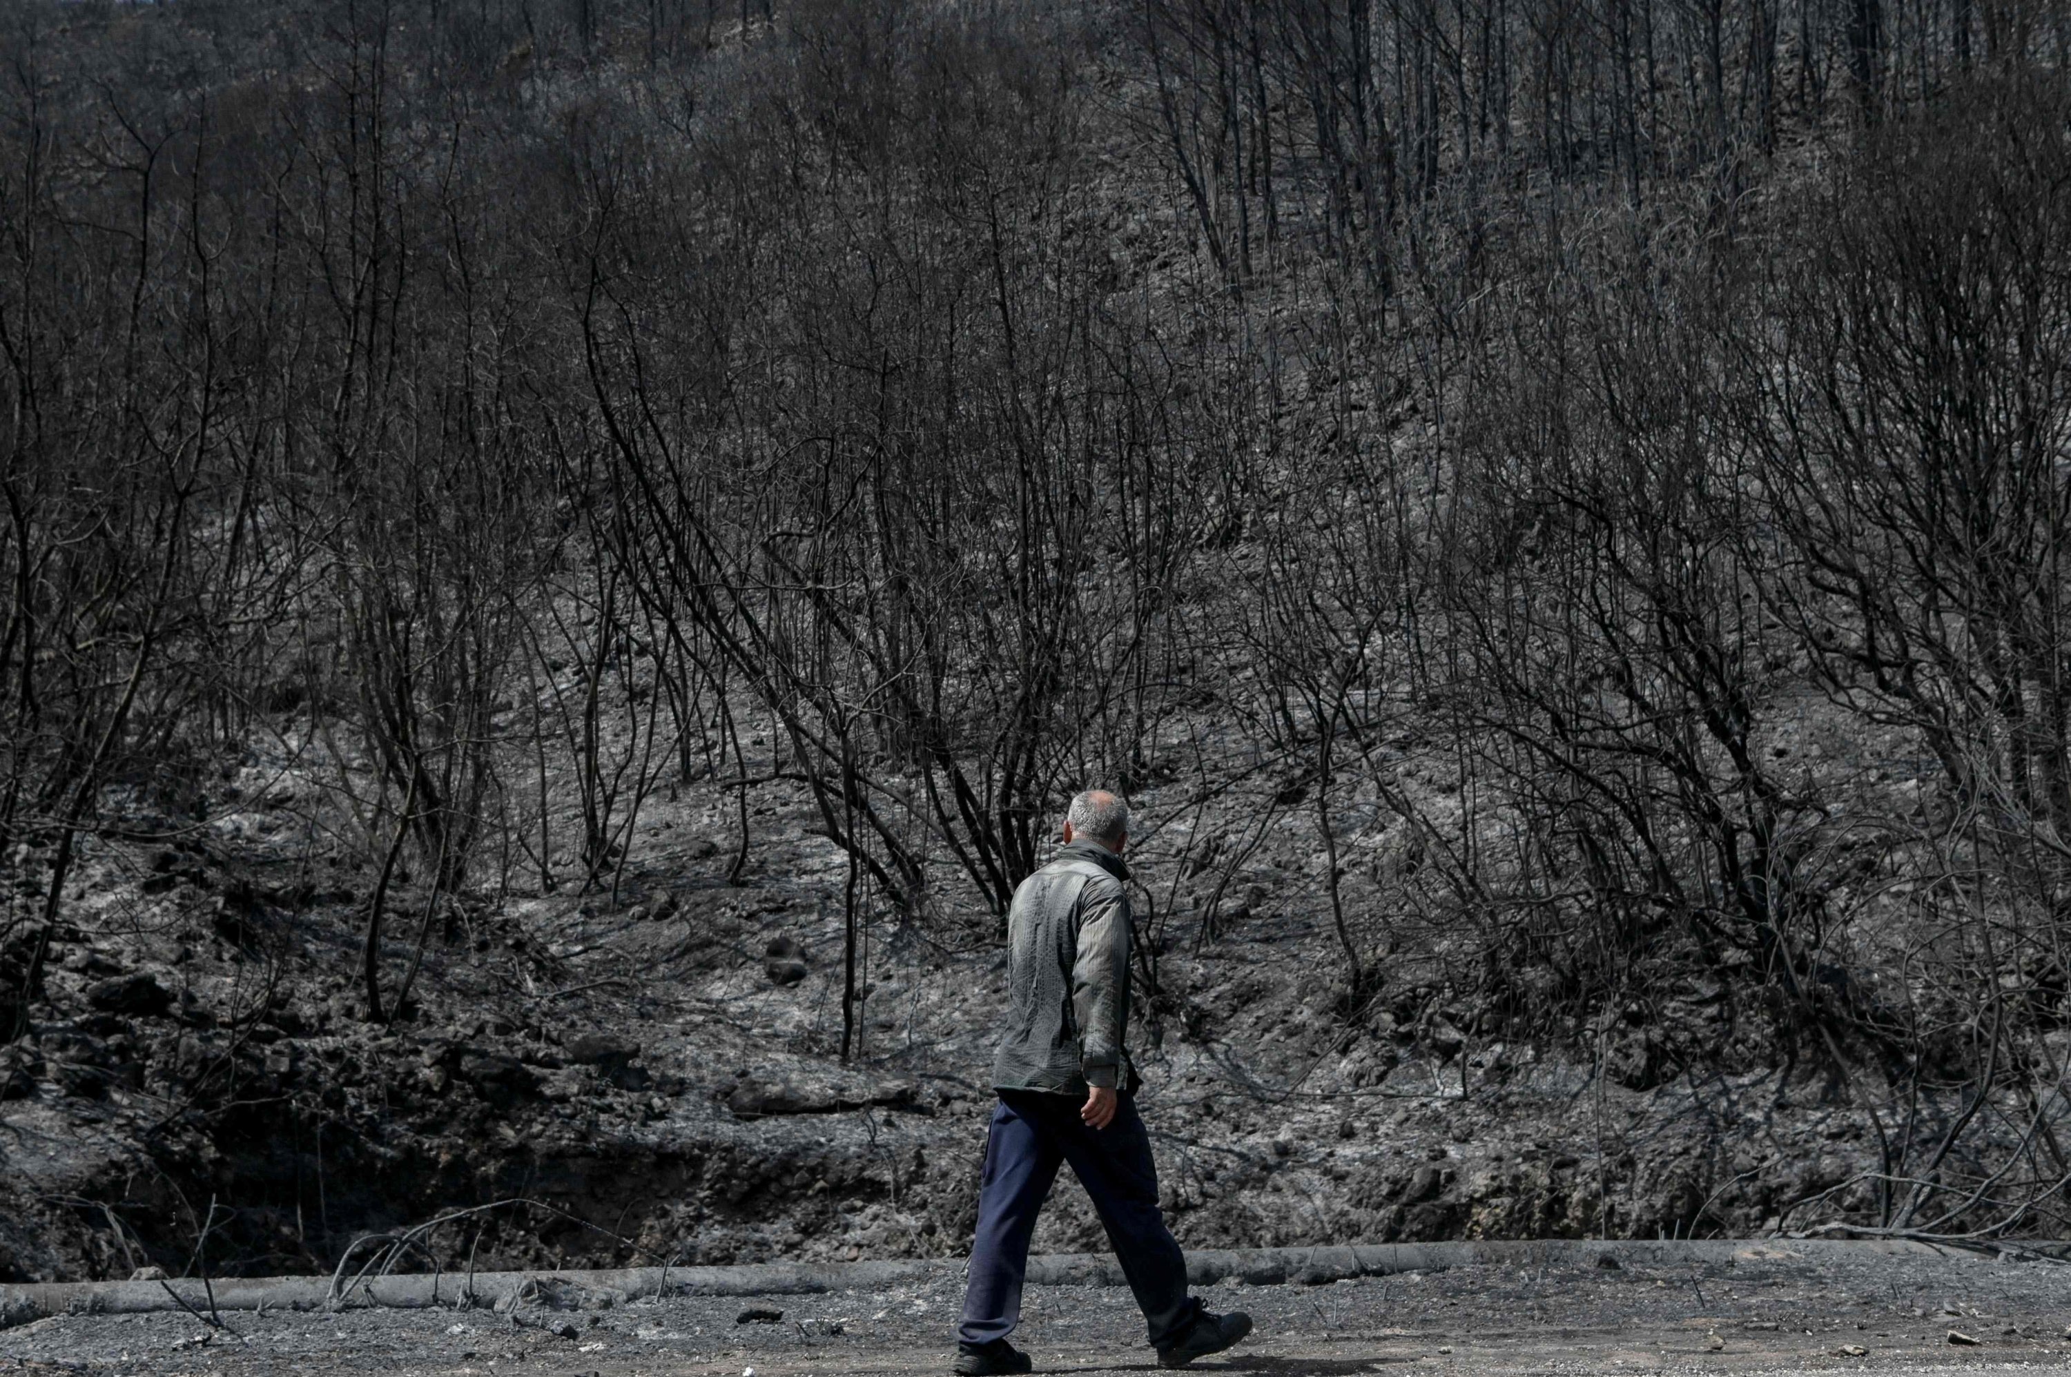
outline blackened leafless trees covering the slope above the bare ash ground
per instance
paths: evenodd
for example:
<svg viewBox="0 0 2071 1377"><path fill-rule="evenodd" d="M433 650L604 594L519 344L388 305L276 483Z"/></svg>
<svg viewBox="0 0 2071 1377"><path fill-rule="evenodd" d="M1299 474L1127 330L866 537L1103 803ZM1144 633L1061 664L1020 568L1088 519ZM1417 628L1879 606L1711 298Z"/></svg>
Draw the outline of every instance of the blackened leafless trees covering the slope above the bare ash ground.
<svg viewBox="0 0 2071 1377"><path fill-rule="evenodd" d="M4 23L12 1033L77 847L232 756L373 876L377 1019L657 791L739 878L770 779L853 1015L1106 779L1185 799L1151 930L1313 917L1348 1029L1816 1066L1883 1166L1808 1211L2061 1224L2061 6Z"/></svg>

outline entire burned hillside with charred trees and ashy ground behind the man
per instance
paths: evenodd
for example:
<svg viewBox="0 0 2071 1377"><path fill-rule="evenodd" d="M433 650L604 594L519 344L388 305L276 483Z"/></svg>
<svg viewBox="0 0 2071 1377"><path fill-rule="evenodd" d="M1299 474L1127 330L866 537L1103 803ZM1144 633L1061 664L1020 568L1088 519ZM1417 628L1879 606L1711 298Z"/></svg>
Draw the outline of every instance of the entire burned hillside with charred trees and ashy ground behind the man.
<svg viewBox="0 0 2071 1377"><path fill-rule="evenodd" d="M2067 41L10 6L0 1278L953 1255L1089 783L1187 1242L2059 1234Z"/></svg>

